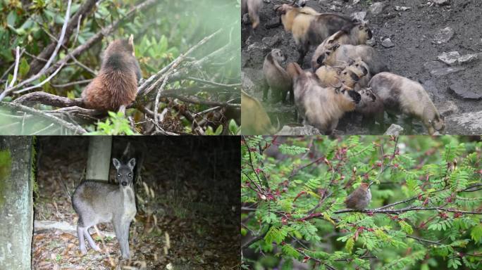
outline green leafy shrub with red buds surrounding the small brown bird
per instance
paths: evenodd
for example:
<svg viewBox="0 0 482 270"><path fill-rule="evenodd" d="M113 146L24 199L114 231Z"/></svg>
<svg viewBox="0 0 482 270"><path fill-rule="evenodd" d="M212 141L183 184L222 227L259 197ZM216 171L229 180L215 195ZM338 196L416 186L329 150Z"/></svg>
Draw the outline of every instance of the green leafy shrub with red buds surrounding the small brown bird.
<svg viewBox="0 0 482 270"><path fill-rule="evenodd" d="M245 269L481 269L480 137L249 136L241 148ZM340 211L362 181L371 211ZM392 208L440 209L373 210L403 200Z"/></svg>

